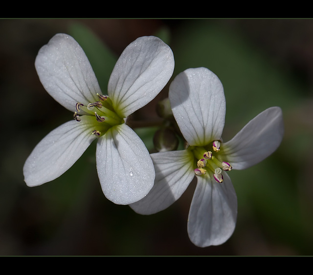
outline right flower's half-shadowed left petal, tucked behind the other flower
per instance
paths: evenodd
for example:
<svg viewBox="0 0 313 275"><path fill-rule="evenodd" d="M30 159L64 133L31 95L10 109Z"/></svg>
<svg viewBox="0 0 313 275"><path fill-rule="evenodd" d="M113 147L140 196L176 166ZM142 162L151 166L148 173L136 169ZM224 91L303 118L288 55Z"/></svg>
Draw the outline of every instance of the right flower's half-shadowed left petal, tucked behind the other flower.
<svg viewBox="0 0 313 275"><path fill-rule="evenodd" d="M169 207L185 192L195 176L193 155L189 150L151 154L156 180L149 194L130 206L143 215L150 215Z"/></svg>

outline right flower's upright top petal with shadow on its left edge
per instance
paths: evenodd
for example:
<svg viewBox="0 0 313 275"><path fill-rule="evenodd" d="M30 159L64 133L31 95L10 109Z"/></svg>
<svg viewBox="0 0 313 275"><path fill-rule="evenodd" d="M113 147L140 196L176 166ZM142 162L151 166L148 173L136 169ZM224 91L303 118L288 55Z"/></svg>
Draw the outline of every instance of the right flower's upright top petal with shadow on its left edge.
<svg viewBox="0 0 313 275"><path fill-rule="evenodd" d="M220 79L206 68L187 69L175 77L169 99L179 128L190 145L207 145L222 136L225 96Z"/></svg>

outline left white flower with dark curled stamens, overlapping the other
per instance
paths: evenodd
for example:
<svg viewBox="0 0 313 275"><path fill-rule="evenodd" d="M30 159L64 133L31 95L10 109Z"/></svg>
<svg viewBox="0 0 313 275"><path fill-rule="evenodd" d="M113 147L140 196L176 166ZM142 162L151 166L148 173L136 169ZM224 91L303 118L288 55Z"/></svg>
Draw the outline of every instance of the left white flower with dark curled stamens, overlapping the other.
<svg viewBox="0 0 313 275"><path fill-rule="evenodd" d="M32 151L23 168L26 184L36 186L62 175L98 139L96 163L104 195L117 204L143 198L155 171L144 143L125 121L172 76L172 50L154 36L136 39L116 62L108 96L102 95L84 51L67 34L56 34L40 49L35 67L45 90L74 112L74 119L51 131Z"/></svg>

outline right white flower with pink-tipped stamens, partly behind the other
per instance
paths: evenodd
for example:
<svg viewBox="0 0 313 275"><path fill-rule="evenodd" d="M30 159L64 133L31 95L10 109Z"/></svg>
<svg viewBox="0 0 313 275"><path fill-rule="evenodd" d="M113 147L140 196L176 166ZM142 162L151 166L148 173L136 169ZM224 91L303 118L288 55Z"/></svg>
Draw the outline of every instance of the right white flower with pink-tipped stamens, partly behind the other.
<svg viewBox="0 0 313 275"><path fill-rule="evenodd" d="M196 175L189 238L199 247L223 244L237 219L237 197L226 171L246 169L277 149L284 132L282 111L268 108L223 143L225 97L215 74L206 68L180 73L170 85L169 99L189 147L151 154L155 185L144 199L130 206L144 215L161 211L179 199Z"/></svg>

